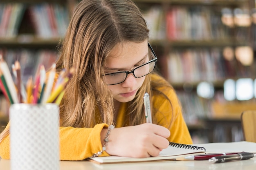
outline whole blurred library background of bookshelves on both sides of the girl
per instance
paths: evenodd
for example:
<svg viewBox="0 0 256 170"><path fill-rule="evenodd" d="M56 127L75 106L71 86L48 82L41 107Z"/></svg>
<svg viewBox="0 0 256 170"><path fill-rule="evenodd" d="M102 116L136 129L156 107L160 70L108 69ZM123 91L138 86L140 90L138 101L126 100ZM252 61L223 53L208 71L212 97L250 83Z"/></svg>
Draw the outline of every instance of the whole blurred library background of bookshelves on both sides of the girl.
<svg viewBox="0 0 256 170"><path fill-rule="evenodd" d="M240 115L256 110L254 0L134 0L150 29L158 71L173 85L195 144L242 141ZM48 69L79 0L1 0L0 54L22 81ZM0 92L0 131L9 103Z"/></svg>

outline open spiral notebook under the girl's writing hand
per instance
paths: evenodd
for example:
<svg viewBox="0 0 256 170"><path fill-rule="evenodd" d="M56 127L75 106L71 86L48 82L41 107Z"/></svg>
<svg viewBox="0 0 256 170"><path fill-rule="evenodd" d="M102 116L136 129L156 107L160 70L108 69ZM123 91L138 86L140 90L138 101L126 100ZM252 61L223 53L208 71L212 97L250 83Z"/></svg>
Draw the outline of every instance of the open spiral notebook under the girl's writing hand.
<svg viewBox="0 0 256 170"><path fill-rule="evenodd" d="M132 157L118 157L118 156L109 156L109 157L94 157L88 158L89 161L95 163L128 163L128 162L145 162L145 161L169 161L175 160L182 155L188 154L202 154L206 152L204 147L194 146L194 145L185 145L177 144L170 142L168 148L163 149L157 157L147 157L147 158L132 158Z"/></svg>

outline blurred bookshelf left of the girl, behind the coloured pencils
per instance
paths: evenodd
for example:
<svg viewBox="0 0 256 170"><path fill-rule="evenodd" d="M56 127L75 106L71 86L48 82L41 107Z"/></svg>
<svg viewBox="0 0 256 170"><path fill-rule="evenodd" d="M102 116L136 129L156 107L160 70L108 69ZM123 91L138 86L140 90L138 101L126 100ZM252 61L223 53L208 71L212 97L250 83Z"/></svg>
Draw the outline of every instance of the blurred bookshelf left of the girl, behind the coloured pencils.
<svg viewBox="0 0 256 170"><path fill-rule="evenodd" d="M76 0L1 0L0 54L9 69L22 65L22 80L36 74L38 64L49 68L58 58ZM7 124L9 103L0 92L0 127ZM3 128L0 128L0 131Z"/></svg>

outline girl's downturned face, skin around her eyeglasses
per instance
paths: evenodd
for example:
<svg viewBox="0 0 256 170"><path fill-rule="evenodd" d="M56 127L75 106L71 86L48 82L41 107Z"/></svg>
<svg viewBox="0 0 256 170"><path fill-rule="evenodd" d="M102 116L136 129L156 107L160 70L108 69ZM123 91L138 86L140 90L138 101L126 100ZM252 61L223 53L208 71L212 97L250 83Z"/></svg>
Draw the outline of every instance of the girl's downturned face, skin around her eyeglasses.
<svg viewBox="0 0 256 170"><path fill-rule="evenodd" d="M136 66L148 62L148 42L141 43L125 42L118 44L110 52L106 59L105 74L117 71L131 71ZM115 76L115 75L113 75ZM109 85L114 99L118 102L129 102L134 99L137 91L142 86L144 77L135 78L132 73L128 74L125 81L120 84Z"/></svg>

